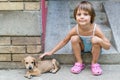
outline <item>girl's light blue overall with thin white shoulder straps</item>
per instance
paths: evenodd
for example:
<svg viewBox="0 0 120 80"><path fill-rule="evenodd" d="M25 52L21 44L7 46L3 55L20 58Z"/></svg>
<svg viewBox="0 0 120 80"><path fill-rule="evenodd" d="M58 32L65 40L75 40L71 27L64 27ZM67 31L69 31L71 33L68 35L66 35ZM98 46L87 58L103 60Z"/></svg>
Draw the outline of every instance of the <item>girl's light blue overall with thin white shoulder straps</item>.
<svg viewBox="0 0 120 80"><path fill-rule="evenodd" d="M96 24L94 25L93 34L91 36L81 36L79 31L78 31L78 25L77 25L77 28L76 28L77 34L80 36L80 39L83 42L84 52L91 52L91 50L92 50L91 38L95 34L95 28L96 28Z"/></svg>

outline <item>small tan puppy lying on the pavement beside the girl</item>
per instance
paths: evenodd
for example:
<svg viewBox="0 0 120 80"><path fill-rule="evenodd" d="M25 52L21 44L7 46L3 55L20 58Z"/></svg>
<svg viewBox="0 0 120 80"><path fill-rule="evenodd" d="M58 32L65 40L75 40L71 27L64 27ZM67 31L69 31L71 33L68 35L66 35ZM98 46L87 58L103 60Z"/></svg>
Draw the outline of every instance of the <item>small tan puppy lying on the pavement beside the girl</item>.
<svg viewBox="0 0 120 80"><path fill-rule="evenodd" d="M27 56L24 58L24 64L27 69L26 78L32 78L32 76L39 76L45 72L56 73L59 68L59 62L56 59L36 61L34 57Z"/></svg>

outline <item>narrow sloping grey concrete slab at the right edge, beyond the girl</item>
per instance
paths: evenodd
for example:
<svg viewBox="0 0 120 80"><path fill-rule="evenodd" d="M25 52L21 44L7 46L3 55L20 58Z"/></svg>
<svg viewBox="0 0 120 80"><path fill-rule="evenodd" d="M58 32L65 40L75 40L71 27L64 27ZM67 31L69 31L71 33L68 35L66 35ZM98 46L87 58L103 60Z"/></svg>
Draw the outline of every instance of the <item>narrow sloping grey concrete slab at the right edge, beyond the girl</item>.
<svg viewBox="0 0 120 80"><path fill-rule="evenodd" d="M118 52L120 52L120 28L119 28L119 23L120 23L120 1L119 2L113 2L113 1L107 1L104 4L104 9L108 17L108 21L110 24L110 27L112 29L112 33L114 36L114 44L116 45L116 49Z"/></svg>

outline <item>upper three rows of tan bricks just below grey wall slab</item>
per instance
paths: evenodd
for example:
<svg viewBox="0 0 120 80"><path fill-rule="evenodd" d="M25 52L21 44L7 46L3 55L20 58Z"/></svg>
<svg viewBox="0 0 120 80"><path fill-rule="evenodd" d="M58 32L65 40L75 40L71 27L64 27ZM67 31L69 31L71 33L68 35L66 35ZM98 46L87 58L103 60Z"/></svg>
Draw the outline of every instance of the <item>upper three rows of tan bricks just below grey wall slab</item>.
<svg viewBox="0 0 120 80"><path fill-rule="evenodd" d="M21 61L26 54L39 53L40 37L0 37L0 61Z"/></svg>

